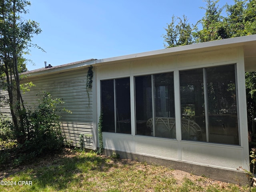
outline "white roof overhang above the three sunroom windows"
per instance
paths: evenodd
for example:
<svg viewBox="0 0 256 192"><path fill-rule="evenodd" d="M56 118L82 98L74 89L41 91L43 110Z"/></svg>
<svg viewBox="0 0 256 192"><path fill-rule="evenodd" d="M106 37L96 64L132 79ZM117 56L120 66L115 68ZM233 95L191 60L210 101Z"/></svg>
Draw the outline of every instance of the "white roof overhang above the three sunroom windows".
<svg viewBox="0 0 256 192"><path fill-rule="evenodd" d="M193 54L196 52L207 52L211 50L220 50L234 47L244 48L244 63L250 70L256 71L256 34L249 36L241 36L236 38L228 38L222 40L215 40L210 42L203 42L198 44L191 44L185 46L178 46L173 48L166 48L150 52L143 52L138 54L130 54L125 56L118 56L106 59L96 60L96 64L108 64L116 62L129 62L132 60L140 60L146 58L158 58L164 56L174 56L179 54Z"/></svg>

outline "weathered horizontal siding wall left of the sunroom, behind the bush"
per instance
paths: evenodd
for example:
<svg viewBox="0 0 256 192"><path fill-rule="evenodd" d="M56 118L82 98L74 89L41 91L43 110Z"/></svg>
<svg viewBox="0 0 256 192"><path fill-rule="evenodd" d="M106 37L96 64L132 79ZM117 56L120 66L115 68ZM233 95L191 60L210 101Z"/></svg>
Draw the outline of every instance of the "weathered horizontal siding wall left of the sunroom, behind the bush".
<svg viewBox="0 0 256 192"><path fill-rule="evenodd" d="M71 110L57 112L61 116L60 126L65 141L73 146L79 146L80 134L92 135L92 90L86 91L87 69L73 72L58 73L40 77L27 77L22 82L32 82L36 86L23 94L26 106L32 110L42 98L42 92L50 92L52 98L61 98L65 103L61 108ZM85 137L85 136L84 136ZM84 138L85 148L92 149L92 139Z"/></svg>

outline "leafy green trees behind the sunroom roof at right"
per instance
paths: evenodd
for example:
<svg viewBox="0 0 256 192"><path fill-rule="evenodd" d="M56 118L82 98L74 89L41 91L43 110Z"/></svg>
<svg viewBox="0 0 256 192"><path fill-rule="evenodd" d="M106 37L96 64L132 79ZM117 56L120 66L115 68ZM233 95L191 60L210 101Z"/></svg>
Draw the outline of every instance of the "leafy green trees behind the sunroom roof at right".
<svg viewBox="0 0 256 192"><path fill-rule="evenodd" d="M192 24L193 28L186 28L187 35L192 34L193 41L186 41L184 44L256 34L256 0L234 0L234 4L226 4L221 8L218 6L219 0L204 0L204 2L206 7L201 7L205 10L203 18L195 25ZM223 14L223 10L226 10L226 15ZM182 22L175 25L174 18L172 16L166 34L163 35L164 42L167 43L165 47L184 45L178 43L183 36L179 33L179 29L183 28ZM252 119L256 118L256 73L246 72L245 77L250 128Z"/></svg>

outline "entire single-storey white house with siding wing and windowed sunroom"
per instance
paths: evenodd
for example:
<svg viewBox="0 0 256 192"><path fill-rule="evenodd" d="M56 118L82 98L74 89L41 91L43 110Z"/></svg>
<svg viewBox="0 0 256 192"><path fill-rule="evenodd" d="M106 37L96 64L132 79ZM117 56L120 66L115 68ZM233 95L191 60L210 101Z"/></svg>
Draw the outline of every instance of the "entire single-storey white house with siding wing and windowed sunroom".
<svg viewBox="0 0 256 192"><path fill-rule="evenodd" d="M24 100L42 90L63 98L72 114L61 114L62 130L74 144L91 134L86 148L99 147L102 111L106 154L238 182L250 163L245 71L256 71L256 35L34 70Z"/></svg>

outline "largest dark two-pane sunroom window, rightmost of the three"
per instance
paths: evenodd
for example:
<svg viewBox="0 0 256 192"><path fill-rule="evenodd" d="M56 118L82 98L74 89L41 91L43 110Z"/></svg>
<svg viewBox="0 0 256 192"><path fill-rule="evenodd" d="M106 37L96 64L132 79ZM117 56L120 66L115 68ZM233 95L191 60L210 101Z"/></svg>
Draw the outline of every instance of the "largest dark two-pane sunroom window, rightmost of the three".
<svg viewBox="0 0 256 192"><path fill-rule="evenodd" d="M239 145L235 73L235 65L180 71L182 140Z"/></svg>

